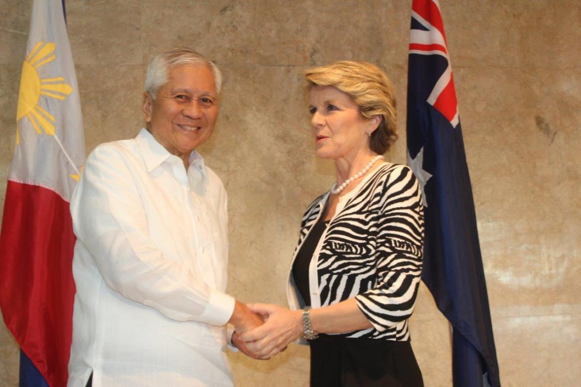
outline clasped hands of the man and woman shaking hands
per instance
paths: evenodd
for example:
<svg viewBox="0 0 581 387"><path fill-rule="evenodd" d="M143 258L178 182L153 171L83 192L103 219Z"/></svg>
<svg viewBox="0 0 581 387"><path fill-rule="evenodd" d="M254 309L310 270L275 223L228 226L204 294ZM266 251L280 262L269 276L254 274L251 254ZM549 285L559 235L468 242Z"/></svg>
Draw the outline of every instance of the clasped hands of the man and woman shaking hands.
<svg viewBox="0 0 581 387"><path fill-rule="evenodd" d="M232 344L253 359L267 360L303 335L302 310L278 305L236 301L229 323L234 325Z"/></svg>

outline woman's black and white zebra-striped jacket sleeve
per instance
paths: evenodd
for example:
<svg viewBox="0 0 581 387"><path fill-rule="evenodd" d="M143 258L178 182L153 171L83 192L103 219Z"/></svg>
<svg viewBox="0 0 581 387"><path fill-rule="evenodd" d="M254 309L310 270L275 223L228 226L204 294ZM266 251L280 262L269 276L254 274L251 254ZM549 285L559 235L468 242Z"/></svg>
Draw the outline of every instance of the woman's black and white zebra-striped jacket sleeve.
<svg viewBox="0 0 581 387"><path fill-rule="evenodd" d="M414 309L422 270L424 206L410 168L395 168L383 187L378 216L375 286L356 296L374 328L383 332Z"/></svg>

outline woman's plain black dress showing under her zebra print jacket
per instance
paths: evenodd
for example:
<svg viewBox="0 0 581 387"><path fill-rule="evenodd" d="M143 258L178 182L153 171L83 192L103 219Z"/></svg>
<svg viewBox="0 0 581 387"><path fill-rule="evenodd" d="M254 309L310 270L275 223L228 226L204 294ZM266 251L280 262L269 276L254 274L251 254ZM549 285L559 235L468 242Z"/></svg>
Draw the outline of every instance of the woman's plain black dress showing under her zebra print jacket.
<svg viewBox="0 0 581 387"><path fill-rule="evenodd" d="M321 219L311 228L295 263L293 278L306 305L311 304L309 265L329 221ZM422 374L409 341L346 338L320 334L311 340L311 386L313 387L421 387Z"/></svg>

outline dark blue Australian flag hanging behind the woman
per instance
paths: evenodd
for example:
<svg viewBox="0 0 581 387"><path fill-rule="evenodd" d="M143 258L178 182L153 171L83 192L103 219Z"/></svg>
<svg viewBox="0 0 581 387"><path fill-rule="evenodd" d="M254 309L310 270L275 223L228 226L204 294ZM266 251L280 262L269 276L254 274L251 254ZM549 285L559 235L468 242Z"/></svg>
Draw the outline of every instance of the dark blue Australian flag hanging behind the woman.
<svg viewBox="0 0 581 387"><path fill-rule="evenodd" d="M454 386L500 376L454 78L437 0L413 0L408 63L408 164L424 192L422 280L452 325Z"/></svg>

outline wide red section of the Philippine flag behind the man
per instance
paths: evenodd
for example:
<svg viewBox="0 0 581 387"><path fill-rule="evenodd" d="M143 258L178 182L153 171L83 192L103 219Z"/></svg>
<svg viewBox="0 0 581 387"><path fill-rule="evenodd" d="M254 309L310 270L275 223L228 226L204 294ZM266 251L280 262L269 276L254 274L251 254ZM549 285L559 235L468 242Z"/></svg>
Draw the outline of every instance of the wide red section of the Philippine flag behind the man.
<svg viewBox="0 0 581 387"><path fill-rule="evenodd" d="M8 180L0 306L6 326L51 386L68 379L74 242L68 202L52 190Z"/></svg>

